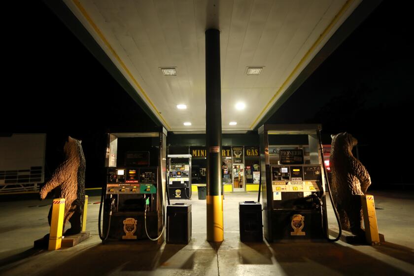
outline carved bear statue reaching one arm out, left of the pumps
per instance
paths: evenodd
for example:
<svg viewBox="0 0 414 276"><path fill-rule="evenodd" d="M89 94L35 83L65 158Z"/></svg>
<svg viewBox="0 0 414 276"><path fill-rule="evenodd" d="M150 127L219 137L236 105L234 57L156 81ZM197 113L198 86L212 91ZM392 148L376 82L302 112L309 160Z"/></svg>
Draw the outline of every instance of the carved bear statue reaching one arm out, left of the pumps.
<svg viewBox="0 0 414 276"><path fill-rule="evenodd" d="M86 162L81 142L81 140L68 137L64 146L64 162L56 169L51 179L40 190L40 198L42 200L53 189L55 189L56 198L66 199L63 231L65 231L65 223L68 220L70 222L70 229L65 232L65 235L78 234L82 229L81 215L83 205L85 204ZM52 207L48 215L49 225L52 217Z"/></svg>

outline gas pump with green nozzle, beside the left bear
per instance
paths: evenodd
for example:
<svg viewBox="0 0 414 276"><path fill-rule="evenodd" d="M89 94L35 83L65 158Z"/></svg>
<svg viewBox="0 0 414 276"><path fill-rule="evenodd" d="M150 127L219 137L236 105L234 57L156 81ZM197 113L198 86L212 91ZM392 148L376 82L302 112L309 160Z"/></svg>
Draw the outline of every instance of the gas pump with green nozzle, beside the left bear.
<svg viewBox="0 0 414 276"><path fill-rule="evenodd" d="M165 129L108 135L98 222L103 242L164 241L166 136Z"/></svg>

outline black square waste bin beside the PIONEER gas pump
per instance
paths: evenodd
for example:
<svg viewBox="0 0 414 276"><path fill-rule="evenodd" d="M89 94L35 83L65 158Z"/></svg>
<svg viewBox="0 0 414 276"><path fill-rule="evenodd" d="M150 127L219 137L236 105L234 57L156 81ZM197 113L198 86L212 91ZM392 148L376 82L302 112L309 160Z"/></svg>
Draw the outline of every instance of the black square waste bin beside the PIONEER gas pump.
<svg viewBox="0 0 414 276"><path fill-rule="evenodd" d="M255 201L239 203L240 240L242 242L263 241L262 205Z"/></svg>

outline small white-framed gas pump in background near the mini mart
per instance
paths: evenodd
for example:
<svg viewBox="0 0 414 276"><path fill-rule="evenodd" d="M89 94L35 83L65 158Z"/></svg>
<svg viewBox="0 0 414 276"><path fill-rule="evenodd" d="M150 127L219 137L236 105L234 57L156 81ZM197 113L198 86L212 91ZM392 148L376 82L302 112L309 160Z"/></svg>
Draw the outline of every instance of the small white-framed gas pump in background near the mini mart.
<svg viewBox="0 0 414 276"><path fill-rule="evenodd" d="M168 155L170 199L191 199L191 154Z"/></svg>

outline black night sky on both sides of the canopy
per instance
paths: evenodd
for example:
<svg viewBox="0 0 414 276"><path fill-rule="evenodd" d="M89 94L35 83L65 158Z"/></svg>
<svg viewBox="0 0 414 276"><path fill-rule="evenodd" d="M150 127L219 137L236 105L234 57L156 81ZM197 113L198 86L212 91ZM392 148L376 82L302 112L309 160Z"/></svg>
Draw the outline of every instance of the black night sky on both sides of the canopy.
<svg viewBox="0 0 414 276"><path fill-rule="evenodd" d="M24 5L6 8L15 17L3 18L1 133L47 133L49 171L61 138L80 138L88 170L100 172L105 132L154 124L44 3ZM324 143L347 131L377 187L413 182L411 169L396 168L413 164L409 10L383 1L268 123L321 123Z"/></svg>

